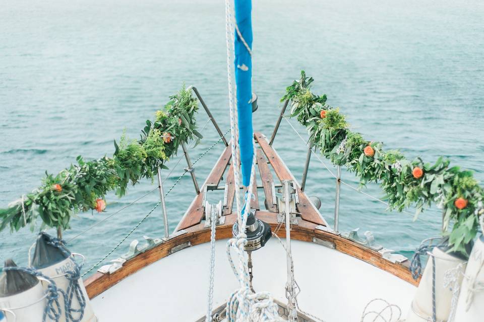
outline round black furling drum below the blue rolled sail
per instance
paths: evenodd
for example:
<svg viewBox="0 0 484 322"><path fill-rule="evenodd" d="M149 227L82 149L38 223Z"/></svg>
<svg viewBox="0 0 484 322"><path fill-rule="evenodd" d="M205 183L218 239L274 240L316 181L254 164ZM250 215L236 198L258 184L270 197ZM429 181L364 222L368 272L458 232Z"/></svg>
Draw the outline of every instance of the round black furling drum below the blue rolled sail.
<svg viewBox="0 0 484 322"><path fill-rule="evenodd" d="M255 210L252 210L247 218L246 235L247 243L244 245L246 252L257 251L266 245L267 240L272 236L271 226L268 223L255 217ZM238 235L238 221L232 226L232 235Z"/></svg>

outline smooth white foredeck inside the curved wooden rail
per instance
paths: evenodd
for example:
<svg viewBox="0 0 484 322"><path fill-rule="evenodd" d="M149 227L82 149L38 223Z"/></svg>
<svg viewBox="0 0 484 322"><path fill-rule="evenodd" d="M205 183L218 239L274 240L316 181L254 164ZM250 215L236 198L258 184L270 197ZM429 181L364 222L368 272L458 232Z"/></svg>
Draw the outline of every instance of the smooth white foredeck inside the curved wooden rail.
<svg viewBox="0 0 484 322"><path fill-rule="evenodd" d="M216 242L214 305L226 302L238 282L228 264L226 240ZM301 309L327 322L359 321L365 305L383 298L410 307L416 288L366 262L324 246L292 241ZM109 321L195 321L206 313L210 245L187 248L127 277L92 300ZM285 252L276 238L253 253L254 288L286 302Z"/></svg>

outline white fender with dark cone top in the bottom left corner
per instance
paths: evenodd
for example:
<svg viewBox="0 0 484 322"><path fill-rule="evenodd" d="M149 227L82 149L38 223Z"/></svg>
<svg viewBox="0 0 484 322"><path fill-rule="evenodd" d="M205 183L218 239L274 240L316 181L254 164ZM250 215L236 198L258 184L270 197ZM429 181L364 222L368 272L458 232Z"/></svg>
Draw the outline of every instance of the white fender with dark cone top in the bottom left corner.
<svg viewBox="0 0 484 322"><path fill-rule="evenodd" d="M17 265L8 260L5 266ZM0 294L0 310L5 314L2 322L42 322L46 298L39 280L23 272L11 271L10 273L11 275L7 276L7 272L4 271L0 276L2 291L11 293L10 295ZM15 277L12 276L14 274ZM6 286L8 284L10 286Z"/></svg>

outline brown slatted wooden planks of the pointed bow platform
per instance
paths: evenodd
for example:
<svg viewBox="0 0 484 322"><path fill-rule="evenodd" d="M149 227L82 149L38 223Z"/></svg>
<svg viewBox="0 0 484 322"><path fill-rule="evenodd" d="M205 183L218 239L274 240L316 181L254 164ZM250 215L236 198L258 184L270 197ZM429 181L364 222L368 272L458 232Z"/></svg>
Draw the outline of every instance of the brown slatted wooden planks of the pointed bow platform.
<svg viewBox="0 0 484 322"><path fill-rule="evenodd" d="M273 186L280 186L283 180L293 180L297 185L297 194L299 197L299 203L296 204L296 210L300 213L300 217L308 222L312 222L318 225L327 226L326 220L320 214L318 209L311 203L308 196L301 191L299 184L295 180L292 173L284 164L283 160L277 154L275 149L269 145L267 138L261 133L255 133L254 135L255 143L258 145L256 148L257 151L257 169L260 174L260 178L262 181L262 191L264 194L265 202L265 209L269 212L277 212L277 207L274 204L273 198ZM213 168L212 172L210 173L209 177L203 184L202 188L200 189L200 193L195 197L192 201L192 204L188 208L187 212L178 223L176 230L187 229L190 228L198 223L200 223L204 219L204 207L203 200L205 199L203 194L210 193L211 190L220 189L219 184L222 181L223 175L227 172L225 186L223 187L224 194L227 196L226 204L223 206L223 215L229 215L233 213L233 202L235 196L235 181L233 177L233 165L230 165L229 169L227 169L227 165L229 164L231 159L231 148L227 146L223 151L222 155L218 159L215 167ZM272 171L276 174L276 180L271 173ZM254 178L254 195L255 198L251 201L251 208L260 210L259 204L259 195L257 187L257 175Z"/></svg>

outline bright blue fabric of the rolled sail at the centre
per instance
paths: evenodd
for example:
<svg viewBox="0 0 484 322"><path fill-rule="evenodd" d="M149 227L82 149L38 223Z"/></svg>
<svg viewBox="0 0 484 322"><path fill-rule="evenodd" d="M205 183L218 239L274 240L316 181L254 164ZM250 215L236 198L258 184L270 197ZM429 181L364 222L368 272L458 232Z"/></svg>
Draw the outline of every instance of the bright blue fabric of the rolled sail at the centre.
<svg viewBox="0 0 484 322"><path fill-rule="evenodd" d="M238 30L252 50L252 2L235 0L235 21ZM235 32L235 84L237 89L238 137L242 183L249 186L254 154L252 128L252 59L243 41ZM248 69L247 69L247 68ZM245 70L244 70L245 69Z"/></svg>

